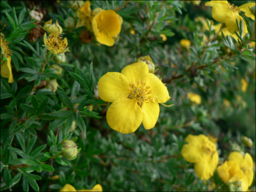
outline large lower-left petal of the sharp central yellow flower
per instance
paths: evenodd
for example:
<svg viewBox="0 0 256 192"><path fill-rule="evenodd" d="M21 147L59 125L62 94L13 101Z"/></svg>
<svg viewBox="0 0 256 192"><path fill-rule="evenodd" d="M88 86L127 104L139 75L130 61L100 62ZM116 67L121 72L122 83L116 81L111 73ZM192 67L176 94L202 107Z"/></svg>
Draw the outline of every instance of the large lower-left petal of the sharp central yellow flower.
<svg viewBox="0 0 256 192"><path fill-rule="evenodd" d="M139 128L143 118L142 109L136 99L120 97L108 108L109 126L121 133L132 133Z"/></svg>

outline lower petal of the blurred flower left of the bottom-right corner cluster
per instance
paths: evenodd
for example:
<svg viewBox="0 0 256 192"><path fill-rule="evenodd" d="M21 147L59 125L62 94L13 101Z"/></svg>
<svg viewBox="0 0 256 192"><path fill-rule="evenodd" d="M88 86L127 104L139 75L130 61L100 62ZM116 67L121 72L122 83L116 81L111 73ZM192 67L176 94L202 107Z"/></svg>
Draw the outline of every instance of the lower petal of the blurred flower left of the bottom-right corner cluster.
<svg viewBox="0 0 256 192"><path fill-rule="evenodd" d="M201 161L195 163L195 172L201 180L207 180L213 176L219 161L218 151L211 157L205 154Z"/></svg>

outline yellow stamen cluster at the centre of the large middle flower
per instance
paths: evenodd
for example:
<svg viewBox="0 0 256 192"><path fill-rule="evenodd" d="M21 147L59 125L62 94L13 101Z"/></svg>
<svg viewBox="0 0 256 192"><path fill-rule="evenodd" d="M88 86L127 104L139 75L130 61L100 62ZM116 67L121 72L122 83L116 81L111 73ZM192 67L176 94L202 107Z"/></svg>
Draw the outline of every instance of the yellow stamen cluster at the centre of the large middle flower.
<svg viewBox="0 0 256 192"><path fill-rule="evenodd" d="M139 82L136 79L136 85L129 83L129 90L132 92L128 98L129 99L137 99L138 105L141 107L142 103L149 103L152 101L151 97L147 97L148 94L152 93L152 90L148 90L150 86L146 86L146 82Z"/></svg>

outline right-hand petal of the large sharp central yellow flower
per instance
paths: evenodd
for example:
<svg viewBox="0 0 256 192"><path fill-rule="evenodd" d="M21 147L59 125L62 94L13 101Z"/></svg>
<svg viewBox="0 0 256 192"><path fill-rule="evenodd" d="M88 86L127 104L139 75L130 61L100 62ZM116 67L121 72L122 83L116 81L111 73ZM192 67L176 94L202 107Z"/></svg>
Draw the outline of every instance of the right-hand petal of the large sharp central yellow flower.
<svg viewBox="0 0 256 192"><path fill-rule="evenodd" d="M150 87L148 90L152 90L152 93L148 94L148 96L151 97L154 103L165 103L170 99L166 86L157 76L148 73L143 81L146 82L146 86Z"/></svg>

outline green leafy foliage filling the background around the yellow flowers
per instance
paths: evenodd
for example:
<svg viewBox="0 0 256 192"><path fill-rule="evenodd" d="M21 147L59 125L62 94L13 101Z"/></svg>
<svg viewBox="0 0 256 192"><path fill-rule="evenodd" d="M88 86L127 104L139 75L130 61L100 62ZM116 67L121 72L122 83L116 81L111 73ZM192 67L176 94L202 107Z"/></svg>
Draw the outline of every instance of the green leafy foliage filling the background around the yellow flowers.
<svg viewBox="0 0 256 192"><path fill-rule="evenodd" d="M216 172L200 180L180 154L188 134L204 134L218 139L220 162L231 151L247 152L255 162L255 43L245 44L247 35L242 45L231 38L225 44L221 34L205 30L196 19L213 20L205 2L90 1L91 10L116 10L123 17L121 33L109 47L86 27L65 25L69 17L79 20L69 1L1 1L1 33L13 52L14 77L7 83L1 76L1 191L59 191L67 183L77 190L95 184L103 191L238 190L225 185ZM43 15L39 22L29 15L33 9ZM66 61L51 60L50 52L44 55L42 27L50 19L58 20L67 37ZM253 29L255 22L246 19ZM106 122L110 103L91 97L94 86L106 72L120 72L148 54L172 97L165 104L174 106L160 106L153 129L140 125L134 133L116 132ZM76 75L88 82L87 90L75 81ZM56 82L57 92L50 87ZM78 117L69 113L76 112L74 106L80 109ZM242 135L252 139L251 147ZM64 139L81 148L76 159L59 158ZM255 191L255 163L250 190Z"/></svg>

